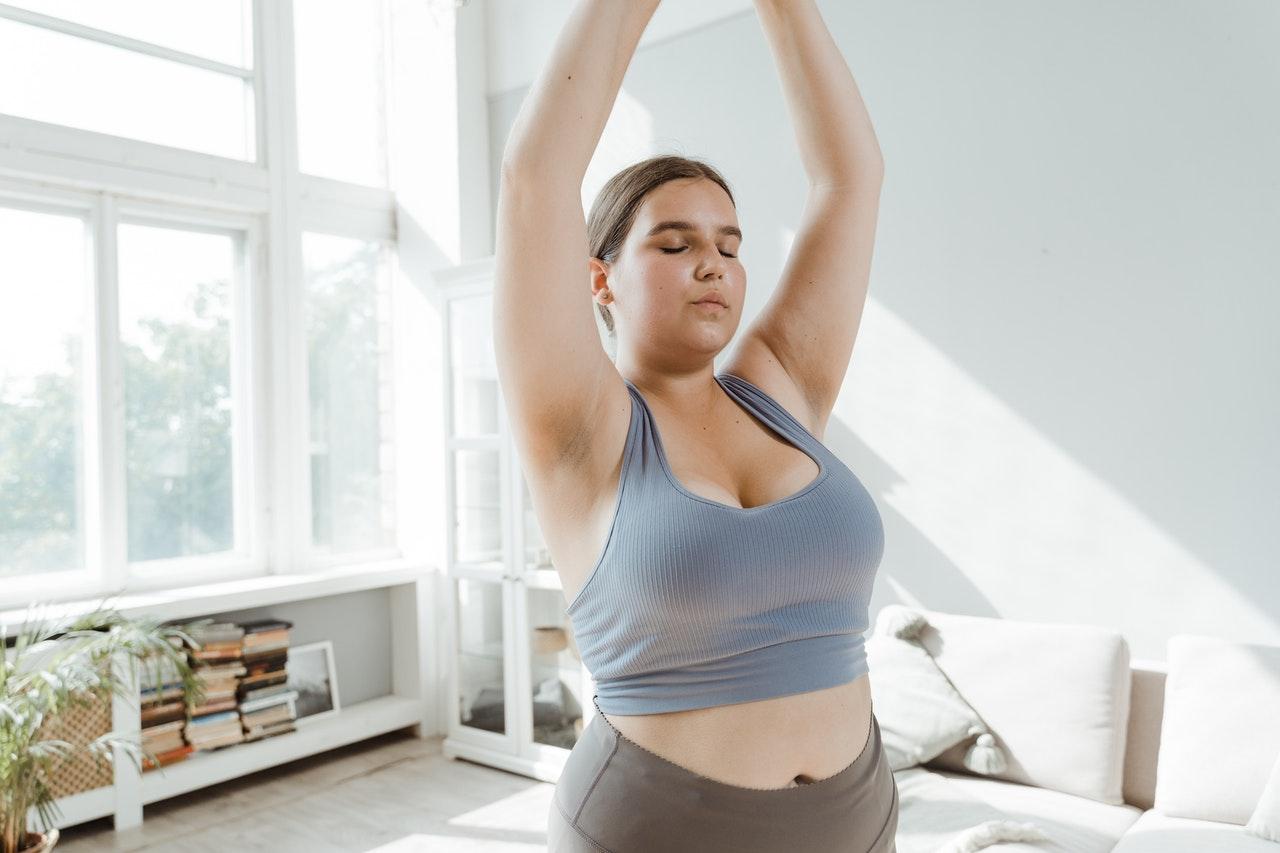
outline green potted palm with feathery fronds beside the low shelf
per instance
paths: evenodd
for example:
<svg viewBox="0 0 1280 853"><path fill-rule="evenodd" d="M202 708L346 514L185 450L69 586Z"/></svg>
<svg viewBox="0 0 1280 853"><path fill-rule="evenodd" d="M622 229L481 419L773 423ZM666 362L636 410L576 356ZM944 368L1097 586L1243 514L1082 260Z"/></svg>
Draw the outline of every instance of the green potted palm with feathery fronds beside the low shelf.
<svg viewBox="0 0 1280 853"><path fill-rule="evenodd" d="M159 690L174 678L188 707L204 699L186 652L198 644L183 628L128 619L105 605L67 619L35 617L28 608L12 638L0 625L0 853L46 853L58 843L54 822L60 809L51 781L79 751L110 766L114 748L120 748L138 772L142 754L155 761L136 736L108 731L77 748L47 736L46 721L76 708L110 706L114 695L136 699L141 683ZM32 808L42 825L38 833L27 829Z"/></svg>

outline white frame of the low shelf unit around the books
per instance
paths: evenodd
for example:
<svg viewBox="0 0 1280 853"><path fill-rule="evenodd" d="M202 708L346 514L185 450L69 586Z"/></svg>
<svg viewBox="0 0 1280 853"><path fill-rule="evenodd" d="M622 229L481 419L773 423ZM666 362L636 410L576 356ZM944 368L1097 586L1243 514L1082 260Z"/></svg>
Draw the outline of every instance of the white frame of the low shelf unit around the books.
<svg viewBox="0 0 1280 853"><path fill-rule="evenodd" d="M343 706L332 717L301 724L296 731L264 740L233 744L211 752L192 753L184 761L140 774L127 754L118 752L114 784L72 794L58 800L56 826L65 827L100 817L113 817L116 830L140 826L145 806L228 781L297 758L343 747L366 738L412 726L419 738L435 731L434 702L429 685L434 670L434 638L429 615L434 607L434 566L392 561L347 566L297 575L268 575L201 587L120 596L109 602L125 616L189 620L202 616L234 619L237 612L273 607L288 617L289 606L300 602L385 590L389 617L390 692ZM49 617L87 612L97 602L72 602L42 611ZM26 608L0 611L0 624L13 634ZM291 633L292 634L292 633ZM303 638L308 642L311 638ZM291 644L294 642L291 635ZM337 652L337 643L335 643ZM339 684L343 669L337 672ZM339 688L339 695L344 689ZM113 730L141 730L140 703L115 698ZM32 825L37 825L31 813Z"/></svg>

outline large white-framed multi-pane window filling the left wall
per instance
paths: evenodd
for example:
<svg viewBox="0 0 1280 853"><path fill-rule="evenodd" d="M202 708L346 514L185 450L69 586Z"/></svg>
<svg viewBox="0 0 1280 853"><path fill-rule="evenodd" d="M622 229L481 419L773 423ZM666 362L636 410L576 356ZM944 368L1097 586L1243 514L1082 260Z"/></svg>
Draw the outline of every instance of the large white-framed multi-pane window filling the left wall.
<svg viewBox="0 0 1280 853"><path fill-rule="evenodd" d="M0 607L397 556L387 15L0 4Z"/></svg>

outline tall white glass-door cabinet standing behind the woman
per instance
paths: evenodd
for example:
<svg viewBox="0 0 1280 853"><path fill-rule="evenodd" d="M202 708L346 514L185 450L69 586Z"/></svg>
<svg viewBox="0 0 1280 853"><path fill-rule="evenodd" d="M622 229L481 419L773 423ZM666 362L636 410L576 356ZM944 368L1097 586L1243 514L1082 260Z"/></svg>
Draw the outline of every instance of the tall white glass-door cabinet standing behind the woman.
<svg viewBox="0 0 1280 853"><path fill-rule="evenodd" d="M594 685L508 430L493 350L493 259L436 279L449 409L443 752L556 781L595 712Z"/></svg>

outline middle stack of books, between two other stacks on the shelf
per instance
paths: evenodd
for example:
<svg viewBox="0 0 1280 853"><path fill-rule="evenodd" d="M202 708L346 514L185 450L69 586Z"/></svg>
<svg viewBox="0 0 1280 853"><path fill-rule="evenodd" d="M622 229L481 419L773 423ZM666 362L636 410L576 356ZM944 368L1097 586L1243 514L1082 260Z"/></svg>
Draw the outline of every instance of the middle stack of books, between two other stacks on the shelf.
<svg viewBox="0 0 1280 853"><path fill-rule="evenodd" d="M192 667L205 688L204 703L189 708L187 743L200 749L218 749L244 740L236 692L244 675L241 643L244 629L236 622L211 622L187 631L198 647L191 652Z"/></svg>

